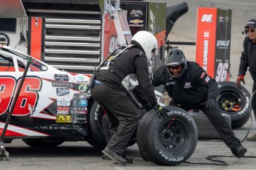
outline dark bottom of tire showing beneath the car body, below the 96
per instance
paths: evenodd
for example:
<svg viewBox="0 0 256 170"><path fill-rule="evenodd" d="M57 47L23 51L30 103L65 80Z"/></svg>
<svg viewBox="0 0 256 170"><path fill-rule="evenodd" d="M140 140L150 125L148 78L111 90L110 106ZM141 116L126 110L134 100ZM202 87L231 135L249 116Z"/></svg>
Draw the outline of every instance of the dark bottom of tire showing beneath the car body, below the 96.
<svg viewBox="0 0 256 170"><path fill-rule="evenodd" d="M65 142L65 140L60 139L58 137L24 138L22 140L28 146L34 148L53 148Z"/></svg>

